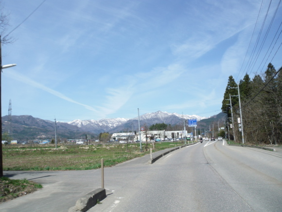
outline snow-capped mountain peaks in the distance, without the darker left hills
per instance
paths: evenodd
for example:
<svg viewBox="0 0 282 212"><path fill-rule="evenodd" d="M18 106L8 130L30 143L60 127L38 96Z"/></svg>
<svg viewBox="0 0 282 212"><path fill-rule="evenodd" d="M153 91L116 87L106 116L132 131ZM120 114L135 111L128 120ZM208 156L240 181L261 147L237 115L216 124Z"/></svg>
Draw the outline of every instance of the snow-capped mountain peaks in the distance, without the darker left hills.
<svg viewBox="0 0 282 212"><path fill-rule="evenodd" d="M155 113L147 113L140 116L141 125L147 124L152 125L156 123L165 124L179 124L184 119L197 119L202 120L206 117L196 115L181 115L177 113L167 113L157 111ZM75 125L85 131L100 133L100 132L118 132L125 128L135 128L138 126L138 117L132 119L126 118L105 118L101 120L73 120L68 124Z"/></svg>

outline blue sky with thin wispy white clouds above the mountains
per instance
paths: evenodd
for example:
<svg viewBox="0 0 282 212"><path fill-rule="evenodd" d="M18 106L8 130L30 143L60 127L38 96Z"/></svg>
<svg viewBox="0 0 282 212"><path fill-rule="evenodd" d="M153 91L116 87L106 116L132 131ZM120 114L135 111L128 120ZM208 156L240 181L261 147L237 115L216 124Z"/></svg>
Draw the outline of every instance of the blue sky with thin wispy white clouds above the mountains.
<svg viewBox="0 0 282 212"><path fill-rule="evenodd" d="M2 36L41 2L1 0L10 24ZM269 2L258 18L262 0L46 0L2 45L2 64L17 63L2 73L2 116L9 99L12 115L65 122L134 118L138 108L140 115L218 114L230 75L239 81L270 61L282 65L280 6L258 59L244 68Z"/></svg>

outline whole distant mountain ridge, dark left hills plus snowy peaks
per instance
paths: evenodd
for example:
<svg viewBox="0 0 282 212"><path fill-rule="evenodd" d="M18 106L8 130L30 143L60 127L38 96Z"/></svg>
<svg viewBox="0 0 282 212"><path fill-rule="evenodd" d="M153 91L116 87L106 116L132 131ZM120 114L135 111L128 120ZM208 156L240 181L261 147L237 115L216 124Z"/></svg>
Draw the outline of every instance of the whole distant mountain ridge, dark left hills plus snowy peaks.
<svg viewBox="0 0 282 212"><path fill-rule="evenodd" d="M11 116L12 120L9 129L9 116L2 116L2 133L11 130L14 139L46 139L54 137L55 123L50 120L35 118L30 115ZM197 120L205 119L197 115L180 115L177 113L167 113L157 111L140 116L140 126L150 126L156 123L165 123L167 125L182 124L183 120L196 118ZM70 122L56 122L57 137L76 138L85 137L86 134L97 136L99 133L108 132L116 133L124 129L138 131L138 116L127 118L104 118L101 120L73 120ZM3 137L4 140L4 137Z"/></svg>

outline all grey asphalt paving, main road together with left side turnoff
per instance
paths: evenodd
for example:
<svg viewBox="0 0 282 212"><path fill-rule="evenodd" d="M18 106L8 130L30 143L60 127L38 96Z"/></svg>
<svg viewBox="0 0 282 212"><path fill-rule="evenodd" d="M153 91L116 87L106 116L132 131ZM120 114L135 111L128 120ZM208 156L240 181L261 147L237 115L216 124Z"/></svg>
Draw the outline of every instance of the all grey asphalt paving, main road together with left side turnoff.
<svg viewBox="0 0 282 212"><path fill-rule="evenodd" d="M282 211L282 152L198 143L148 164L150 155L105 168L106 198L89 212ZM43 184L1 212L68 211L101 187L101 171L4 172Z"/></svg>

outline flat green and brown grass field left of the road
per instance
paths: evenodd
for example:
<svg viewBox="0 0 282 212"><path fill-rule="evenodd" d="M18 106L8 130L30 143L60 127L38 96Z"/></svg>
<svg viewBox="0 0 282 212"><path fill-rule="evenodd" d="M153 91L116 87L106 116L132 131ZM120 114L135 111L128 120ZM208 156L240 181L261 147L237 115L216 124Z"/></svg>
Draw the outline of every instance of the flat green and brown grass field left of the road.
<svg viewBox="0 0 282 212"><path fill-rule="evenodd" d="M153 152L182 145L181 142L158 142ZM55 145L37 146L8 145L2 147L3 170L13 171L53 171L53 170L89 170L104 166L110 167L135 157L150 154L146 144L98 144L98 145ZM147 150L153 148L148 143Z"/></svg>

